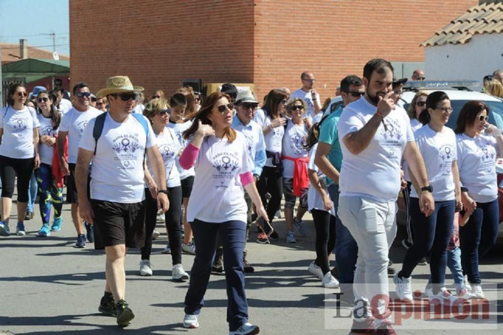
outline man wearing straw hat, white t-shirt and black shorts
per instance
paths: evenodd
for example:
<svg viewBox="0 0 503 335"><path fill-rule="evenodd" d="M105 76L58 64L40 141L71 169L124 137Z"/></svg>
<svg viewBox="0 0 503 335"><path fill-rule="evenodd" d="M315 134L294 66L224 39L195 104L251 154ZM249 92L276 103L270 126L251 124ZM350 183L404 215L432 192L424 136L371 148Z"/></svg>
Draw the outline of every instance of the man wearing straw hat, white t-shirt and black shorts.
<svg viewBox="0 0 503 335"><path fill-rule="evenodd" d="M129 247L141 247L145 240L145 155L158 186L153 194L157 205L163 212L169 207L164 163L155 134L145 117L132 114L140 91L143 88L133 86L127 76L107 79L107 87L97 96L107 98L110 112L91 120L84 130L75 171L80 215L95 225L95 248L105 248L107 255L105 295L99 310L116 316L120 326L129 325L134 318L125 301L124 259Z"/></svg>

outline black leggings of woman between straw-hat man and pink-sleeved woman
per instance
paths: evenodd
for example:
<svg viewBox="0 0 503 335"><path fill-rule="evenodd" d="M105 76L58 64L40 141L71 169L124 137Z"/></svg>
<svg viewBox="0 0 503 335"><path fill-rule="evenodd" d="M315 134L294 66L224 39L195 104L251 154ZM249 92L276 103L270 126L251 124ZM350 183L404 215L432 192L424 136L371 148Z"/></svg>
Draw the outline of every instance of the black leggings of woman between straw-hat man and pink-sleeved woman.
<svg viewBox="0 0 503 335"><path fill-rule="evenodd" d="M170 209L164 214L167 238L171 248L173 265L182 264L182 232L180 219L182 216L182 187L167 189ZM152 198L150 191L145 189L145 246L141 248L141 259L149 260L152 252L152 232L157 223L157 200Z"/></svg>

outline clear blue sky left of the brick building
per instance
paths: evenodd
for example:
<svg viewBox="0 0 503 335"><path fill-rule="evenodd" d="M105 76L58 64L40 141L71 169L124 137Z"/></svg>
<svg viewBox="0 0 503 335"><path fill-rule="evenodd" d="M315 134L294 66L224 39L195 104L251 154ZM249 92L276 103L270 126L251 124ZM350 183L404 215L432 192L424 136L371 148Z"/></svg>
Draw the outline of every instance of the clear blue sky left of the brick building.
<svg viewBox="0 0 503 335"><path fill-rule="evenodd" d="M19 43L52 51L56 34L56 51L70 54L68 0L0 0L0 42Z"/></svg>

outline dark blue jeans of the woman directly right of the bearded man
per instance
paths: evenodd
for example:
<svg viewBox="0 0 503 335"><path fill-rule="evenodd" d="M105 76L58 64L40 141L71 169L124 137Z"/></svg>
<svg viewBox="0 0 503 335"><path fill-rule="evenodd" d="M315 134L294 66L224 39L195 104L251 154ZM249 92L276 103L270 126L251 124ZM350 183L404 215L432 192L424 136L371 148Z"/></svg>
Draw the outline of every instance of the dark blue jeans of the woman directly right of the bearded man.
<svg viewBox="0 0 503 335"><path fill-rule="evenodd" d="M407 249L398 277L409 278L419 261L430 253L430 273L433 293L437 293L445 280L447 246L454 224L454 200L435 201L435 211L425 216L419 208L419 199L410 198L410 217L414 243Z"/></svg>

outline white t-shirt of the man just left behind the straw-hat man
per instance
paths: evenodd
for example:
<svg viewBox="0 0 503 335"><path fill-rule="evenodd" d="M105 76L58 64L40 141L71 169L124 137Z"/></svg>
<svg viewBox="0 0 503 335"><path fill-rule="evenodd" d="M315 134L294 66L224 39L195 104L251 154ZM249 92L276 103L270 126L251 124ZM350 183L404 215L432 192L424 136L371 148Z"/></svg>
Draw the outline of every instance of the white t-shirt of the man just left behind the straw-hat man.
<svg viewBox="0 0 503 335"><path fill-rule="evenodd" d="M68 163L75 164L77 162L80 136L82 136L82 132L88 125L88 122L101 113L103 112L94 107L89 107L86 112L80 112L72 108L63 115L59 125L59 131L68 132ZM91 131L91 139L94 142L93 131ZM94 147L92 151L94 151Z"/></svg>

